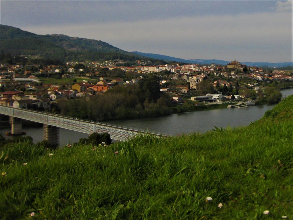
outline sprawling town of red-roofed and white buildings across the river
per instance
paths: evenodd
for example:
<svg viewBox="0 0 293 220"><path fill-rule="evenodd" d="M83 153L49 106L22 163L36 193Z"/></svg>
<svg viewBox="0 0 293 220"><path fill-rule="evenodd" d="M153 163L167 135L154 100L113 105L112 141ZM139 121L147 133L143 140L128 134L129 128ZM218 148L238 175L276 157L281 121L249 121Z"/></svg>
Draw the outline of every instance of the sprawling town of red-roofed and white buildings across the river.
<svg viewBox="0 0 293 220"><path fill-rule="evenodd" d="M149 65L139 60L137 65L125 66L120 60L105 62L67 62L64 65L9 65L2 63L0 69L0 104L23 109L62 111L61 103L72 99L105 95L115 87L139 85L150 75L156 76L160 93L157 102L164 97L163 104L175 111L161 114L196 110L197 106L222 104L238 101L259 101L269 103L280 101L278 90L293 85L290 70L265 70L261 67L242 65L234 60L227 65L200 65L171 63ZM112 92L112 91L111 91ZM113 93L113 92L112 92ZM59 101L58 101L59 100ZM62 101L60 101L62 100ZM137 101L134 109L146 109L146 99ZM115 108L119 107L115 106ZM126 106L131 107L131 106ZM61 111L60 111L61 110ZM68 113L68 112L67 112ZM147 115L160 113L151 112ZM126 116L124 114L124 116ZM88 116L84 116L88 117ZM137 116L138 117L138 116ZM99 117L98 120L117 118ZM118 117L120 118L120 117Z"/></svg>

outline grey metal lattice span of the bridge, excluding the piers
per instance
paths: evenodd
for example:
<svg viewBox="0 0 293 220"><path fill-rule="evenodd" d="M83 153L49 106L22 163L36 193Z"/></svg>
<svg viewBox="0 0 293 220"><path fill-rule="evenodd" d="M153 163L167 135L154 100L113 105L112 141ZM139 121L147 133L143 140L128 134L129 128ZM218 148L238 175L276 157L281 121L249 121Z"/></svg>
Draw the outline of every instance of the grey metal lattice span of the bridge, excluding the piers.
<svg viewBox="0 0 293 220"><path fill-rule="evenodd" d="M119 141L126 141L128 138L137 136L138 134L151 134L158 137L172 136L170 134L165 133L128 128L125 126L117 126L114 124L102 123L86 119L77 119L69 116L54 115L44 113L42 111L18 109L2 105L0 105L0 114L9 115L16 118L21 118L38 123L48 124L59 128L79 131L87 134L91 134L94 132L109 133L112 139Z"/></svg>

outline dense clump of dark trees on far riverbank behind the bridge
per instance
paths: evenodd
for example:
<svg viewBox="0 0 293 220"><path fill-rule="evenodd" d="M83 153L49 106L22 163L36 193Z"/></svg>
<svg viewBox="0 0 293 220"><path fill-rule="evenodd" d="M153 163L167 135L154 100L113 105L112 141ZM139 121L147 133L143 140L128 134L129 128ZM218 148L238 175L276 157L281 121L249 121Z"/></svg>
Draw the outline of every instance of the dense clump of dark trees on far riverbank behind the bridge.
<svg viewBox="0 0 293 220"><path fill-rule="evenodd" d="M170 114L171 100L160 93L159 78L150 75L139 84L115 86L104 95L58 99L56 111L77 118L103 121Z"/></svg>

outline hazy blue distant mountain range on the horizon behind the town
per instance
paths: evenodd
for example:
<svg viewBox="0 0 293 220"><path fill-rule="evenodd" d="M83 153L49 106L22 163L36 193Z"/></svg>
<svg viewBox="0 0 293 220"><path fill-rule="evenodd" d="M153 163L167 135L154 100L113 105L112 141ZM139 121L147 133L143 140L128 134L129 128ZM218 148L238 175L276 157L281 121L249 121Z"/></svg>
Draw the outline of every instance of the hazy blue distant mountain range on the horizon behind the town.
<svg viewBox="0 0 293 220"><path fill-rule="evenodd" d="M160 55L155 53L141 53L138 51L132 51L132 53L136 53L145 57L151 57L159 60L165 60L166 62L169 61L176 61L176 62L183 62L183 63L197 63L197 64L219 64L219 65L227 65L227 63L231 61L225 61L225 60L202 60L202 59L192 59L192 60L184 60L181 58L176 57L170 57L166 55ZM240 60L238 60L241 62ZM293 62L280 62L280 63L270 63L270 62L241 62L244 65L249 66L268 66L268 67L287 67L287 66L293 66Z"/></svg>

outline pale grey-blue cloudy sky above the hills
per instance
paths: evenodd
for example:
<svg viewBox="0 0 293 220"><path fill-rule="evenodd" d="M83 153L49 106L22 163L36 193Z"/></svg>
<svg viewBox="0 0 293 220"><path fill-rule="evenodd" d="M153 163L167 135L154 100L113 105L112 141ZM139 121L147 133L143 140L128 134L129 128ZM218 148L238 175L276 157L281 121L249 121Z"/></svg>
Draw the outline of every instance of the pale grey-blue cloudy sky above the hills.
<svg viewBox="0 0 293 220"><path fill-rule="evenodd" d="M0 23L182 59L292 62L292 3L0 0Z"/></svg>

